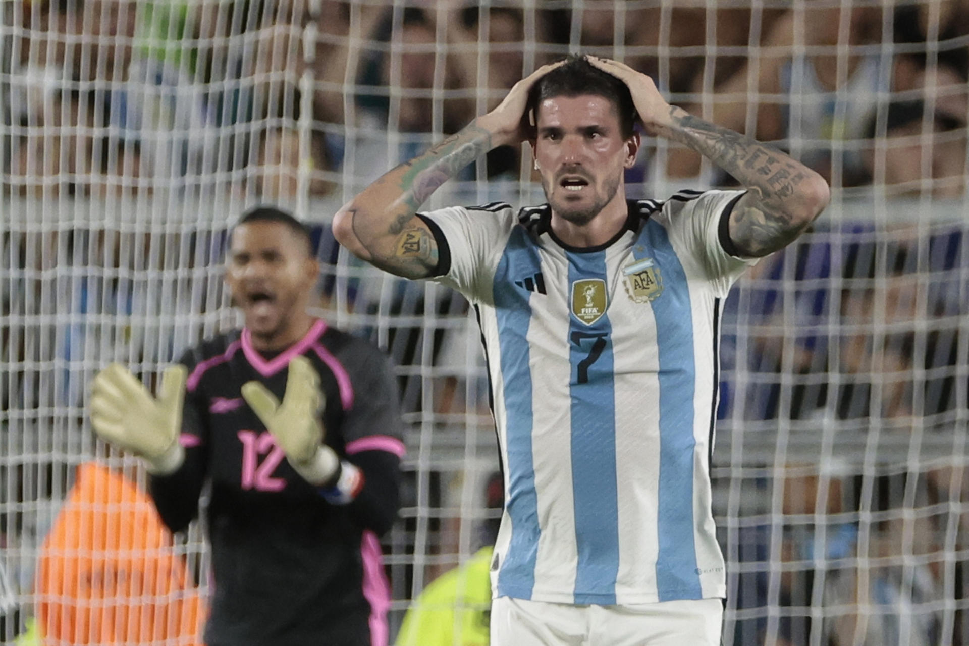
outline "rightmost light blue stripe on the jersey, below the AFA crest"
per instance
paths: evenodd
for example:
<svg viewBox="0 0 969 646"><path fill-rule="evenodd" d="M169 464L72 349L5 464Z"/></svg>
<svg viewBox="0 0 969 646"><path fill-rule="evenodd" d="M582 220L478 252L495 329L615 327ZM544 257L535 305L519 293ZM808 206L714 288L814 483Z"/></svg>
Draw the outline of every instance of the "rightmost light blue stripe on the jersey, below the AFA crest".
<svg viewBox="0 0 969 646"><path fill-rule="evenodd" d="M651 248L651 249L650 249ZM661 272L663 292L652 301L660 385L659 555L656 586L661 601L701 599L693 518L693 437L696 363L690 292L683 265L666 229L654 220L634 245Z"/></svg>

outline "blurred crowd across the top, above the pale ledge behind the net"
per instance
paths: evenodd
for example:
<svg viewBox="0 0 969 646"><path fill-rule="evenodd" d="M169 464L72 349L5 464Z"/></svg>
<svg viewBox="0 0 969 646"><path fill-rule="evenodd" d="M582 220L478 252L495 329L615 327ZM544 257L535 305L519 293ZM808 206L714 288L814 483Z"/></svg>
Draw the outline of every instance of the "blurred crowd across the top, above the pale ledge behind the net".
<svg viewBox="0 0 969 646"><path fill-rule="evenodd" d="M955 197L965 185L964 0L17 0L0 12L0 184L17 194L353 190L577 49L625 60L673 103L776 142L836 188ZM518 156L492 151L468 177L527 178ZM630 171L648 178L731 183L657 141Z"/></svg>

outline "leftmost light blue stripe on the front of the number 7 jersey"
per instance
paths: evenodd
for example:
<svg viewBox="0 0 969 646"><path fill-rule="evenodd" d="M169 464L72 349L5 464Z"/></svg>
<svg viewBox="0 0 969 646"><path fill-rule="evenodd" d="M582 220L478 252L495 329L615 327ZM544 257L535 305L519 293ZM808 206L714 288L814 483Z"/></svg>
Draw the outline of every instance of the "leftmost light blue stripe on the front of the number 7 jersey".
<svg viewBox="0 0 969 646"><path fill-rule="evenodd" d="M508 515L512 540L498 572L498 596L531 599L535 587L538 555L538 498L532 461L532 374L528 365L528 325L532 310L529 297L545 298L515 285L516 280L541 270L538 251L524 228L516 227L494 277L494 305L503 397L507 411L505 427L508 450Z"/></svg>

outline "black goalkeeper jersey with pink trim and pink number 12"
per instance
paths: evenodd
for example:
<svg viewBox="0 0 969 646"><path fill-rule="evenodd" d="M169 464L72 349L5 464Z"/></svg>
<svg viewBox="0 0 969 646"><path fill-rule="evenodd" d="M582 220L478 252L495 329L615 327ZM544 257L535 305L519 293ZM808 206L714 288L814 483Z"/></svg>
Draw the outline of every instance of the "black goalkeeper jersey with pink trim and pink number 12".
<svg viewBox="0 0 969 646"><path fill-rule="evenodd" d="M327 502L297 475L240 393L258 380L281 400L297 354L320 374L326 443L363 474L349 504ZM377 536L396 518L404 446L384 354L318 321L271 358L241 330L203 342L180 362L189 370L185 463L171 476L152 477L150 491L178 532L195 517L203 485L211 485L214 580L205 643L386 644L390 590Z"/></svg>

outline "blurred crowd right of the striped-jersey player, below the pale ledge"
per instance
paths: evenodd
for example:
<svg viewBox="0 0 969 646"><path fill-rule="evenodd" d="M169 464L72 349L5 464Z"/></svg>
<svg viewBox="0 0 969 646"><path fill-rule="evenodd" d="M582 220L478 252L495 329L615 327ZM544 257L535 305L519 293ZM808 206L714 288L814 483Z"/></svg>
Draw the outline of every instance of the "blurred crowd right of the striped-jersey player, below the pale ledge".
<svg viewBox="0 0 969 646"><path fill-rule="evenodd" d="M964 241L816 233L731 296L735 643L969 644Z"/></svg>

